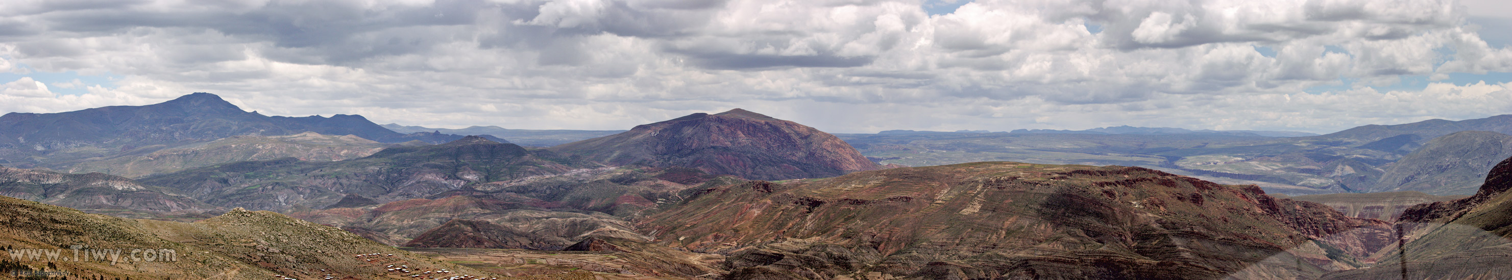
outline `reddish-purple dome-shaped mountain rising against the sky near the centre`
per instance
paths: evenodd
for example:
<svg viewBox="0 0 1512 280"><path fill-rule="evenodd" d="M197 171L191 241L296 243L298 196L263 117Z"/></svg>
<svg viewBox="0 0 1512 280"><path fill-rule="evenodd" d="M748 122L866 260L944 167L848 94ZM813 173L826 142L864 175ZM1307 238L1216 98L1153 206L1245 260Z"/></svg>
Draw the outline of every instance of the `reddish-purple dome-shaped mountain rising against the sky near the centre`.
<svg viewBox="0 0 1512 280"><path fill-rule="evenodd" d="M614 166L692 167L747 179L832 178L881 169L824 131L739 108L638 125L550 151Z"/></svg>

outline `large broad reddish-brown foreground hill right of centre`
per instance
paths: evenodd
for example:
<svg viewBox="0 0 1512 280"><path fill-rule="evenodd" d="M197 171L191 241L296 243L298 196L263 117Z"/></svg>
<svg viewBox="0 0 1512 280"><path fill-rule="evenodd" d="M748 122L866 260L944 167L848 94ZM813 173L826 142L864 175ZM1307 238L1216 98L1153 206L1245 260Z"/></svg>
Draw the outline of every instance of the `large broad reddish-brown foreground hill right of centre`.
<svg viewBox="0 0 1512 280"><path fill-rule="evenodd" d="M696 193L638 227L729 254L729 278L1305 278L1390 242L1385 221L1139 167L972 163Z"/></svg>

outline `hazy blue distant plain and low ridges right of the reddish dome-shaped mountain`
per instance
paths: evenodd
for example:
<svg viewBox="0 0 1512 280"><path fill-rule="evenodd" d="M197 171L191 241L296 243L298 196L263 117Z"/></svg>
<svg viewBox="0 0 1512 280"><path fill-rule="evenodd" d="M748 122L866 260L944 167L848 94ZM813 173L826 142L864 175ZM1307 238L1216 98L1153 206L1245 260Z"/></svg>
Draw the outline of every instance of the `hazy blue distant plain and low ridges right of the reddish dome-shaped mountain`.
<svg viewBox="0 0 1512 280"><path fill-rule="evenodd" d="M1019 132L885 132L838 134L878 163L936 166L974 161L1025 161L1049 164L1119 164L1158 169L1229 184L1256 184L1272 193L1323 194L1415 190L1430 194L1471 194L1491 163L1506 155L1488 154L1471 163L1445 163L1427 145L1468 148L1464 131L1512 131L1512 114L1470 120L1423 120L1403 125L1365 125L1340 132L1305 137L1259 137L1241 134L1163 134L1157 128L1114 126L1102 131ZM1120 134L1107 134L1120 132ZM1179 132L1179 131L1176 131ZM1492 135L1479 135L1489 138ZM1453 142L1453 143L1448 143ZM1489 143L1489 142L1485 142ZM1500 148L1497 148L1500 151ZM1492 151L1494 152L1494 151ZM1411 157L1409 157L1411 155ZM1488 160L1489 158L1489 160ZM1396 166L1402 166L1391 172ZM1450 178L1426 179L1415 170L1458 170ZM1388 176L1391 172L1391 178ZM1438 173L1438 172L1430 172ZM1468 173L1468 176L1465 176ZM1412 176L1412 178L1408 178ZM1426 179L1426 181L1424 181ZM1442 190L1436 190L1442 187Z"/></svg>

